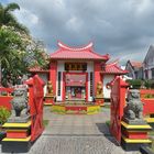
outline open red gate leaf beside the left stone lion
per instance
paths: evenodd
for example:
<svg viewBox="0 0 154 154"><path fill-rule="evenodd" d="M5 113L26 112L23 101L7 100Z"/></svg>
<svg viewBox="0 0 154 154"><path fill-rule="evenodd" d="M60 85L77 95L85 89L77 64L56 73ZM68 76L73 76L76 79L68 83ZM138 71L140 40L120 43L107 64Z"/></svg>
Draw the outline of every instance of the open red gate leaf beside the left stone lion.
<svg viewBox="0 0 154 154"><path fill-rule="evenodd" d="M35 141L43 132L43 87L45 82L35 75L30 78L29 85L29 106L31 114L31 141Z"/></svg>

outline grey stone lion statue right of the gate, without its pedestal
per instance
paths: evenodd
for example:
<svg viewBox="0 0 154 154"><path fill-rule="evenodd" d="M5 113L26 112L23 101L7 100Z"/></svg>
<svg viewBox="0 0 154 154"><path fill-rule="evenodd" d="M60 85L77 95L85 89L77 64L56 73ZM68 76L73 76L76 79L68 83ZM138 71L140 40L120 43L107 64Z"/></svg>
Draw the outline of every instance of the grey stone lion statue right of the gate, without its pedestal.
<svg viewBox="0 0 154 154"><path fill-rule="evenodd" d="M124 108L124 117L130 120L143 119L143 102L140 100L139 90L130 90L128 92L128 103Z"/></svg>

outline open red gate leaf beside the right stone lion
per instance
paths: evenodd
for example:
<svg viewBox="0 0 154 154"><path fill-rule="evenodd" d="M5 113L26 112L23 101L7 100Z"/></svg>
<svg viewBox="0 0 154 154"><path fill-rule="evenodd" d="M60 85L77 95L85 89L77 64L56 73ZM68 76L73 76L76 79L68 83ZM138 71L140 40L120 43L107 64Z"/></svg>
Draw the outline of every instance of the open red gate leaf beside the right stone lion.
<svg viewBox="0 0 154 154"><path fill-rule="evenodd" d="M111 82L111 117L110 132L117 142L121 143L121 119L123 117L123 108L125 105L125 92L128 84L120 77Z"/></svg>

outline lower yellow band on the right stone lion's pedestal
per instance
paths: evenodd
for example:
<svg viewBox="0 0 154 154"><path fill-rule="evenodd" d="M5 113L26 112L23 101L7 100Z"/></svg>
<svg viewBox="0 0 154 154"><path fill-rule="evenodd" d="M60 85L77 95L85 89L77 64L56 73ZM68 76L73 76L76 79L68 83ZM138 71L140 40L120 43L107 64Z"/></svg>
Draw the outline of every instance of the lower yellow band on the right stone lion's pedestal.
<svg viewBox="0 0 154 154"><path fill-rule="evenodd" d="M148 139L127 139L125 136L122 136L122 139L127 143L152 143L152 141Z"/></svg>

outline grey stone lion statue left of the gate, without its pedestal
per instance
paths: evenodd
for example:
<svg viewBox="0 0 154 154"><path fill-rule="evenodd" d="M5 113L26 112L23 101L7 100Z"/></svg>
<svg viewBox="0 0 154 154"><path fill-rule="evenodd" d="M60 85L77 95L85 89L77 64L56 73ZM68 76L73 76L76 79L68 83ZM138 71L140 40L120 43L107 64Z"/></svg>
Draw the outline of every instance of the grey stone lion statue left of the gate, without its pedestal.
<svg viewBox="0 0 154 154"><path fill-rule="evenodd" d="M30 119L30 107L28 105L26 87L18 87L14 89L14 97L11 100L12 110L8 122L28 122Z"/></svg>

